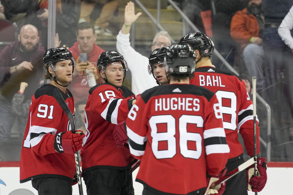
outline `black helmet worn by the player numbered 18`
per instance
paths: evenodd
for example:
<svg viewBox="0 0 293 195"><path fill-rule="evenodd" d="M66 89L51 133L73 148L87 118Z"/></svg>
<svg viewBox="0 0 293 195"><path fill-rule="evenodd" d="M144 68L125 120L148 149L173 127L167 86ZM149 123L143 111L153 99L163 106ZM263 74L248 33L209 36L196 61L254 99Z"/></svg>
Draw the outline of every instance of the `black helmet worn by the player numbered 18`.
<svg viewBox="0 0 293 195"><path fill-rule="evenodd" d="M127 63L126 63L125 59L123 58L123 56L117 51L103 51L99 55L99 58L97 61L97 68L99 70L99 74L100 74L101 70L103 73L105 73L106 66L111 63L114 63L114 62L120 62L122 64L123 69L124 69L124 77L123 78L125 78L126 70L128 70Z"/></svg>

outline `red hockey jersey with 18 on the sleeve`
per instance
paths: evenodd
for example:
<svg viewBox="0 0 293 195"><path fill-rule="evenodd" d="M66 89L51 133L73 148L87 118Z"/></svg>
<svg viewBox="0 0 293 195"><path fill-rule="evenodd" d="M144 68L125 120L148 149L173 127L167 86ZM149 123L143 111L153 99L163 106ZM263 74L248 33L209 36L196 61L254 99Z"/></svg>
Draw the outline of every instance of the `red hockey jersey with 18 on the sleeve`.
<svg viewBox="0 0 293 195"><path fill-rule="evenodd" d="M95 168L126 169L135 160L129 149L118 148L113 138L115 126L125 121L134 100L123 94L109 83L89 90L85 106L87 133L80 154L83 173Z"/></svg>

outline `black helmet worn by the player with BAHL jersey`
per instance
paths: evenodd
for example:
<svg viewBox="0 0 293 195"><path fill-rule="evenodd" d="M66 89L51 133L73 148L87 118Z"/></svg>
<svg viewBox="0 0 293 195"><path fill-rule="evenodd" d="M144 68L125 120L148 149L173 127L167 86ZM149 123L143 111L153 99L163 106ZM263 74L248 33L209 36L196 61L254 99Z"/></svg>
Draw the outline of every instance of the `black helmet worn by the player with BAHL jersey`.
<svg viewBox="0 0 293 195"><path fill-rule="evenodd" d="M179 43L188 43L194 50L198 50L201 56L212 57L215 45L212 39L206 34L194 32L186 34L182 37Z"/></svg>

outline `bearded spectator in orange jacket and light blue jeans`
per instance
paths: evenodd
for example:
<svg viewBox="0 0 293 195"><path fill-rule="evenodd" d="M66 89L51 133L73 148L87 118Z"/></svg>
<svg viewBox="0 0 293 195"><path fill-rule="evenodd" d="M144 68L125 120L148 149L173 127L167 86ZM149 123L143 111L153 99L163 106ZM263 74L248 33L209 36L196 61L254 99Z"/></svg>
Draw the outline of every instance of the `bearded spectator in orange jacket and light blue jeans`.
<svg viewBox="0 0 293 195"><path fill-rule="evenodd" d="M244 64L250 76L256 76L256 91L263 90L262 30L264 18L261 12L262 0L249 0L246 8L237 11L232 17L230 34L234 41L240 44Z"/></svg>

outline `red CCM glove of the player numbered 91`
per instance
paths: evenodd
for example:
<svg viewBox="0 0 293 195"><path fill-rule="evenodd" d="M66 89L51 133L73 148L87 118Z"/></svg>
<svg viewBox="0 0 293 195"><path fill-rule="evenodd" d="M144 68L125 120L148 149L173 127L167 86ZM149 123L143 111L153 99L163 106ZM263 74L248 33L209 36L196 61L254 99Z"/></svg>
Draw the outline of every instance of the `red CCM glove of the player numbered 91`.
<svg viewBox="0 0 293 195"><path fill-rule="evenodd" d="M55 136L54 148L55 150L62 154L74 154L76 151L79 151L82 146L82 139L85 137L85 134L81 130L76 130L75 134L71 131L58 133Z"/></svg>

